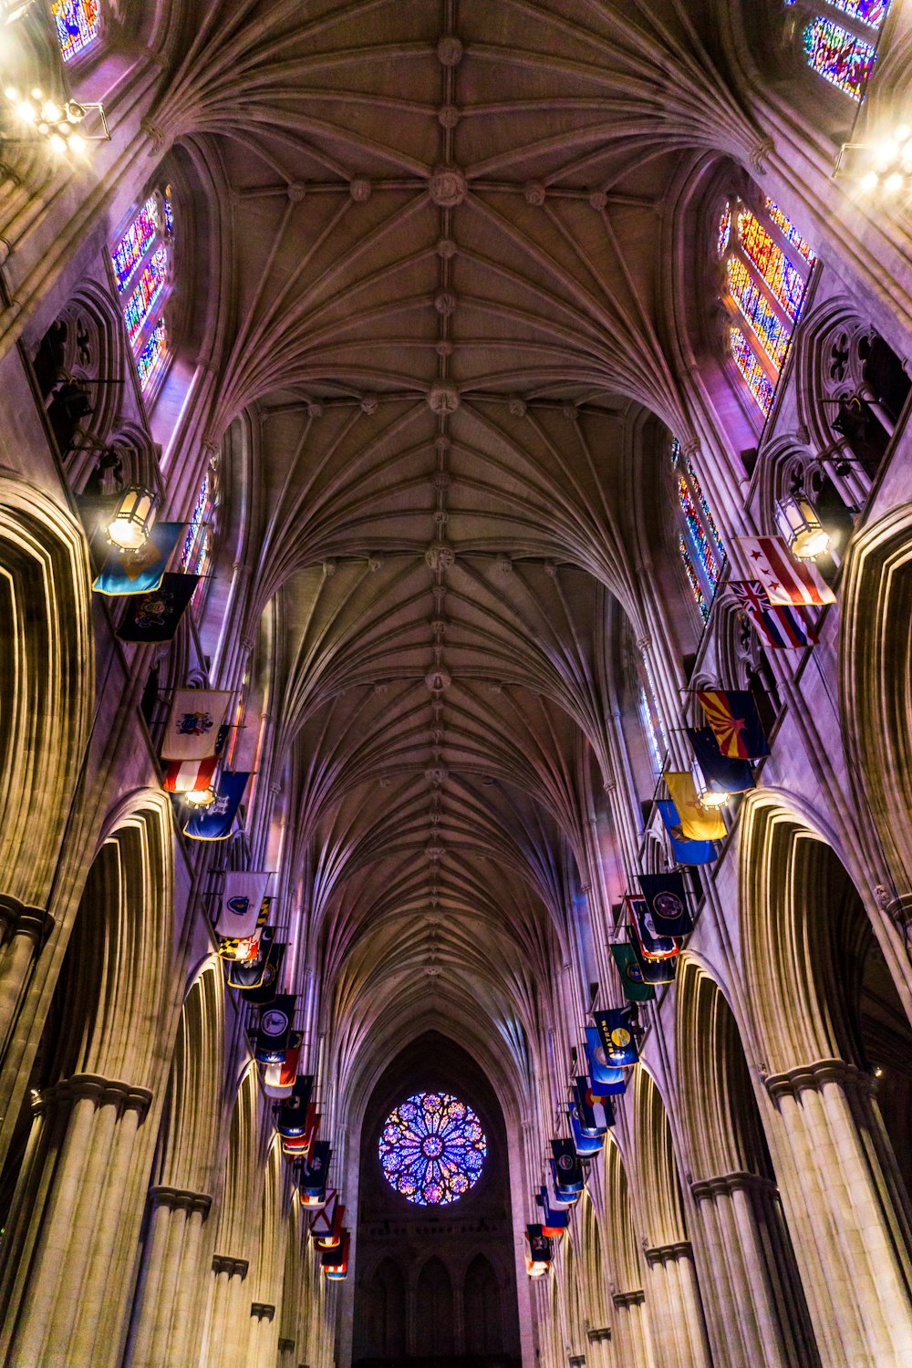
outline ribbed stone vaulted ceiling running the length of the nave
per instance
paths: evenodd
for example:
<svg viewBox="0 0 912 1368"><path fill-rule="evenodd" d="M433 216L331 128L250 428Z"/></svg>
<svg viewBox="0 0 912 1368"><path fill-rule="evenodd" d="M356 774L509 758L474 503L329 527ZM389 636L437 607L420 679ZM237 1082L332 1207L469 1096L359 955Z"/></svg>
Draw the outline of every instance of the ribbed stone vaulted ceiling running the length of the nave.
<svg viewBox="0 0 912 1368"><path fill-rule="evenodd" d="M250 611L351 1049L428 1003L528 1026L610 845L644 412L686 431L673 207L760 142L712 8L232 0L180 36L152 124L223 201L209 425L257 432Z"/></svg>

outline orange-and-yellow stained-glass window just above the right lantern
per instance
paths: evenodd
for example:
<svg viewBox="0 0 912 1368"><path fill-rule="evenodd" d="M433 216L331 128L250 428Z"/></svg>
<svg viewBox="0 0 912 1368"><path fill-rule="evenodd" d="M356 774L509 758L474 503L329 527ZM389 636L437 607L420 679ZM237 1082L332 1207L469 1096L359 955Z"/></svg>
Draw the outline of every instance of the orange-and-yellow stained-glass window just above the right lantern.
<svg viewBox="0 0 912 1368"><path fill-rule="evenodd" d="M816 256L797 224L768 197L756 212L740 200L727 201L716 241L719 246L725 242L722 301L732 320L727 350L766 417Z"/></svg>

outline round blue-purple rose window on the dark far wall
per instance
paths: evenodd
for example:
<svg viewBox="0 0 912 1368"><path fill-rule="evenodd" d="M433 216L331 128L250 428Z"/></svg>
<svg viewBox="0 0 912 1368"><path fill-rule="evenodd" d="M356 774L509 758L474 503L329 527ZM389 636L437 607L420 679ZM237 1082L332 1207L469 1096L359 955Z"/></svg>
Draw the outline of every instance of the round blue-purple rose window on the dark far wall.
<svg viewBox="0 0 912 1368"><path fill-rule="evenodd" d="M481 1122L451 1093L414 1093L386 1119L380 1166L418 1207L448 1207L477 1183L488 1142Z"/></svg>

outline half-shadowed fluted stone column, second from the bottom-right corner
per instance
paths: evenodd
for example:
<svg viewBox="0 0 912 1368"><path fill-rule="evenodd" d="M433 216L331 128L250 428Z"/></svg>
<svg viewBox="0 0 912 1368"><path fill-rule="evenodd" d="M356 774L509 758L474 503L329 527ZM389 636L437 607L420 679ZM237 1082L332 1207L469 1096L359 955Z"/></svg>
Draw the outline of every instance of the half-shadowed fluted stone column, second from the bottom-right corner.
<svg viewBox="0 0 912 1368"><path fill-rule="evenodd" d="M725 1368L816 1364L775 1183L738 1172L690 1190L712 1270L704 1309L714 1361Z"/></svg>

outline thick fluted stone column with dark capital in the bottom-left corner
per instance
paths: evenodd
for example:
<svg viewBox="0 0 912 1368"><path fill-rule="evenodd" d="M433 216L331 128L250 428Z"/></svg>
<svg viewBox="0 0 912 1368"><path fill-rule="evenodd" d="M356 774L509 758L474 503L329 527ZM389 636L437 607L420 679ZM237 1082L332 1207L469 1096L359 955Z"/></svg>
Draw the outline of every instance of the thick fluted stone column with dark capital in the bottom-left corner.
<svg viewBox="0 0 912 1368"><path fill-rule="evenodd" d="M150 1100L146 1089L94 1074L78 1074L38 1100L40 1109L52 1104L56 1120L40 1175L33 1163L21 1175L19 1186L37 1200L27 1211L7 1315L11 1368L101 1365L115 1352L116 1345L96 1346L96 1338L104 1313L115 1311L116 1324L123 1323L124 1287L111 1271L124 1222L138 1227L141 1216L130 1209L129 1178ZM44 1130L41 1118L38 1124ZM25 1218L18 1196L14 1208Z"/></svg>

